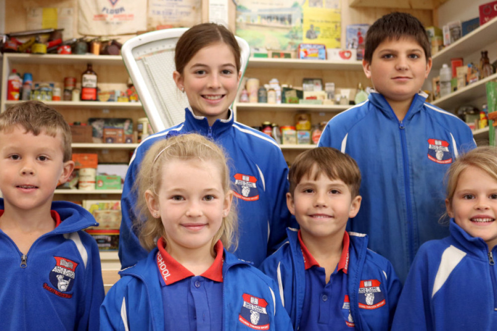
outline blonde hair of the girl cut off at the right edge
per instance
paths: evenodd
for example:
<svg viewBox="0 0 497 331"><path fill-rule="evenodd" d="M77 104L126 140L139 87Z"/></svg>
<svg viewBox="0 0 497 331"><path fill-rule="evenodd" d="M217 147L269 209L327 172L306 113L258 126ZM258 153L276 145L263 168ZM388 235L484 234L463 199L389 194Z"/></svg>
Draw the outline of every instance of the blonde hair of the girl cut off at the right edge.
<svg viewBox="0 0 497 331"><path fill-rule="evenodd" d="M445 174L446 196L448 203L452 203L461 173L469 167L478 168L486 172L497 181L497 147L480 146L460 155ZM447 212L442 217L447 216Z"/></svg>

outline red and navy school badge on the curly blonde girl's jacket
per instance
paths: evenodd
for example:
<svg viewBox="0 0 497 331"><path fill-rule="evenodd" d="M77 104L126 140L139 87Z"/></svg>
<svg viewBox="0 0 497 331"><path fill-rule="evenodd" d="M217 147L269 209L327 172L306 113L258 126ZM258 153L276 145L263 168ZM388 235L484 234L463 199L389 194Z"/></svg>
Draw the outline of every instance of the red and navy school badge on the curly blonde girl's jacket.
<svg viewBox="0 0 497 331"><path fill-rule="evenodd" d="M267 301L244 293L244 303L240 309L238 320L254 330L269 330L269 316L267 315Z"/></svg>

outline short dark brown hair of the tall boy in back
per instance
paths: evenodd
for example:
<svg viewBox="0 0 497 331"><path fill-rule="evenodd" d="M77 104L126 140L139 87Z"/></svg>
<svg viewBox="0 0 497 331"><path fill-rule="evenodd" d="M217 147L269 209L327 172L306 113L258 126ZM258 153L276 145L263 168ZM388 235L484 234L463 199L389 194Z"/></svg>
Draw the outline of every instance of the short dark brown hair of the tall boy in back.
<svg viewBox="0 0 497 331"><path fill-rule="evenodd" d="M426 29L413 15L398 11L382 16L369 27L364 44L364 60L371 63L374 51L385 40L399 40L407 36L417 41L428 61L431 47Z"/></svg>

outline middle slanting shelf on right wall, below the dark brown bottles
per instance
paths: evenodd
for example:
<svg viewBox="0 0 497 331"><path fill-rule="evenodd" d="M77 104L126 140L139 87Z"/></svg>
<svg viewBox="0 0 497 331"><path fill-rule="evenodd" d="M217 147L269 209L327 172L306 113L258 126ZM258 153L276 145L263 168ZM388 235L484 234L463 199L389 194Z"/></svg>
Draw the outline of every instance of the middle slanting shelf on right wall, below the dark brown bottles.
<svg viewBox="0 0 497 331"><path fill-rule="evenodd" d="M494 79L497 79L497 73L460 88L449 95L433 101L432 104L447 111L454 110L456 107L464 103L471 102L472 100L487 95L485 84Z"/></svg>

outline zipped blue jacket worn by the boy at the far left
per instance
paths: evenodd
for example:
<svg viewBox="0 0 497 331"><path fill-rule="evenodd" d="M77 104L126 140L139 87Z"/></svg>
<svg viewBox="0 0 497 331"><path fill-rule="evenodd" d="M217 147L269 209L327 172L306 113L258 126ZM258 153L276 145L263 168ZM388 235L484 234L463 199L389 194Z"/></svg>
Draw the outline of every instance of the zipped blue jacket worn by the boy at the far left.
<svg viewBox="0 0 497 331"><path fill-rule="evenodd" d="M98 330L100 255L82 231L97 223L71 202L54 201L52 210L62 223L36 239L25 256L0 230L0 330Z"/></svg>

